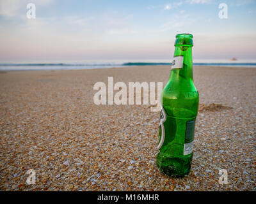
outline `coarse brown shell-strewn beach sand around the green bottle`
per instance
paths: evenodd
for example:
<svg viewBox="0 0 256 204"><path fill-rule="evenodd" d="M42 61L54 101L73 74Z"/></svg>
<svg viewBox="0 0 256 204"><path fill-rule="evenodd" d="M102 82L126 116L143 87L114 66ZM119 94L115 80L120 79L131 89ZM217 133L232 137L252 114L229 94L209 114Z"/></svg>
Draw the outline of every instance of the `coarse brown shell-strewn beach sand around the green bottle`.
<svg viewBox="0 0 256 204"><path fill-rule="evenodd" d="M93 85L163 82L169 66L0 73L1 191L255 191L256 69L194 66L191 173L156 167L159 112L95 105ZM26 184L29 169L36 184ZM219 170L228 184L219 184Z"/></svg>

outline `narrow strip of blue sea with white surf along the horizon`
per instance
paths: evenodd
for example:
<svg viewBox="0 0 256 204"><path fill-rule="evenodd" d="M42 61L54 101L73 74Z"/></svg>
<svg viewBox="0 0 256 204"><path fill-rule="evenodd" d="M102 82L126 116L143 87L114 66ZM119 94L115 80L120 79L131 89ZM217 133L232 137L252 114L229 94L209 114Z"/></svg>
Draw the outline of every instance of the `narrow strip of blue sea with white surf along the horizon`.
<svg viewBox="0 0 256 204"><path fill-rule="evenodd" d="M97 69L97 68L124 68L129 66L170 65L171 60L116 60L116 61L66 61L66 62L2 62L0 71L23 70L61 70L61 69ZM256 60L194 60L194 66L229 66L256 68Z"/></svg>

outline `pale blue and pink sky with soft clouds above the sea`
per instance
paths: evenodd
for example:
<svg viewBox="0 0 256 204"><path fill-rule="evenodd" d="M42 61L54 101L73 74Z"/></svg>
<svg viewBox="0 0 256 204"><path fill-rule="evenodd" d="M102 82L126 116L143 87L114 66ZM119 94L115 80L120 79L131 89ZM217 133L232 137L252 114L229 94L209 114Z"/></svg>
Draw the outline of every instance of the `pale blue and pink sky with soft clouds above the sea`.
<svg viewBox="0 0 256 204"><path fill-rule="evenodd" d="M0 0L0 61L170 59L179 33L194 59L256 59L255 20L256 0Z"/></svg>

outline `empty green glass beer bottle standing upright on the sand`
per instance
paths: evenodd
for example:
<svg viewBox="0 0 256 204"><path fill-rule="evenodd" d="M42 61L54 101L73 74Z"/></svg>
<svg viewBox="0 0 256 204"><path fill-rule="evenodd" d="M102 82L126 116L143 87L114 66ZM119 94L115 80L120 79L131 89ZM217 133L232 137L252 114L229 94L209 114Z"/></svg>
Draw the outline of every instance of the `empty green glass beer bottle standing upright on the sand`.
<svg viewBox="0 0 256 204"><path fill-rule="evenodd" d="M156 164L170 177L191 170L199 94L193 82L191 34L177 34L170 79L162 93Z"/></svg>

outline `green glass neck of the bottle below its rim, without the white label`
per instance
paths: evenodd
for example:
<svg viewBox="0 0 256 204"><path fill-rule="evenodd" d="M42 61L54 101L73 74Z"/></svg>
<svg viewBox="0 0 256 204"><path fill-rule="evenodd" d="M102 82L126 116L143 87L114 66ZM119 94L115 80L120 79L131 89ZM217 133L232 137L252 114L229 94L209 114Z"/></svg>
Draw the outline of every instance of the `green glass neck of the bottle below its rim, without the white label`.
<svg viewBox="0 0 256 204"><path fill-rule="evenodd" d="M175 47L174 57L177 56L183 56L183 66L182 69L172 69L170 80L193 81L192 47Z"/></svg>

